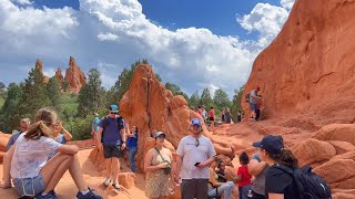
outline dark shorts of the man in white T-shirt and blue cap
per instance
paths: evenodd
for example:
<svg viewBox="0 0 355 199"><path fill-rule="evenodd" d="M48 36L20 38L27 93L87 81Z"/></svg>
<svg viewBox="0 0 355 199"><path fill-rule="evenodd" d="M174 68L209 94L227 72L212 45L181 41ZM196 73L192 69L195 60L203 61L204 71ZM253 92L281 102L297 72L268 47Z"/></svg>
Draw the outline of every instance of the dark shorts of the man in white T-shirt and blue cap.
<svg viewBox="0 0 355 199"><path fill-rule="evenodd" d="M181 199L207 199L209 179L183 179L181 184Z"/></svg>

